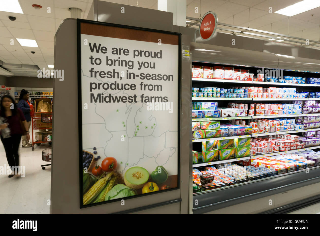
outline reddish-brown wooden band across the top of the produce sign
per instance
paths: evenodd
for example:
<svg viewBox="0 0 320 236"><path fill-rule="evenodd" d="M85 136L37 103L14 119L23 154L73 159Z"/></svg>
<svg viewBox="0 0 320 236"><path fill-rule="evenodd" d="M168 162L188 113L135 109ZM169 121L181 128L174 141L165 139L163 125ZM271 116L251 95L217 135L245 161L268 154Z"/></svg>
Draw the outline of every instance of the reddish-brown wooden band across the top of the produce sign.
<svg viewBox="0 0 320 236"><path fill-rule="evenodd" d="M152 43L158 43L158 40L161 39L161 43L163 44L179 45L179 37L178 35L174 34L136 30L84 22L81 22L80 24L81 34L110 37L117 39L145 41Z"/></svg>

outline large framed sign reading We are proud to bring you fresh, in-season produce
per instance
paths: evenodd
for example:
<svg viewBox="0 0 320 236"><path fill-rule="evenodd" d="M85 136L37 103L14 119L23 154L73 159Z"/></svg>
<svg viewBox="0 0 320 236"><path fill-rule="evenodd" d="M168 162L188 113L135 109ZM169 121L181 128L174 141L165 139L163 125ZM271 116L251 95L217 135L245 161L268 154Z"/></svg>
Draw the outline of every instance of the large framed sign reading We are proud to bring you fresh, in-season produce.
<svg viewBox="0 0 320 236"><path fill-rule="evenodd" d="M80 207L179 188L180 41L78 19Z"/></svg>

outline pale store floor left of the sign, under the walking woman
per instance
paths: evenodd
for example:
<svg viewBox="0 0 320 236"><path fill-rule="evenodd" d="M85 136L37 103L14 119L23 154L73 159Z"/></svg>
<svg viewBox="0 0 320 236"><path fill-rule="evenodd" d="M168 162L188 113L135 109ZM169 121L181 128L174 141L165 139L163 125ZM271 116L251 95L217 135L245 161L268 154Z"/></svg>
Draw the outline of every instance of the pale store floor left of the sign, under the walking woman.
<svg viewBox="0 0 320 236"><path fill-rule="evenodd" d="M0 175L0 214L49 214L51 166L42 170L41 165L50 162L42 161L42 150L49 148L48 144L31 148L22 148L20 143L20 166L25 166L26 175ZM3 144L0 142L0 166L8 165Z"/></svg>

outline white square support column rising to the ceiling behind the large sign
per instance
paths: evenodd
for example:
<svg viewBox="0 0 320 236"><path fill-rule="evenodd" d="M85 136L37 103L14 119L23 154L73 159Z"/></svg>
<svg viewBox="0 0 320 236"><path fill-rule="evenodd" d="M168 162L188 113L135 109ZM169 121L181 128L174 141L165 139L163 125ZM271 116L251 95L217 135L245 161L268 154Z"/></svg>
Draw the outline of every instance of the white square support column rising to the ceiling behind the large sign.
<svg viewBox="0 0 320 236"><path fill-rule="evenodd" d="M158 10L173 13L173 24L186 26L187 0L158 0Z"/></svg>

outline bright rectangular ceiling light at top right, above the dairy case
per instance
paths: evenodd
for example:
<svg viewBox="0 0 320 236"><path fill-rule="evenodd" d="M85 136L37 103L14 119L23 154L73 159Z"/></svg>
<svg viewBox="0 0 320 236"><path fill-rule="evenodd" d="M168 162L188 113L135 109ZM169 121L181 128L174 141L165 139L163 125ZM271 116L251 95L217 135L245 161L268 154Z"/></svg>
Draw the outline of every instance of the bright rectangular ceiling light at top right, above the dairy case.
<svg viewBox="0 0 320 236"><path fill-rule="evenodd" d="M293 16L293 15L317 8L319 6L320 6L319 0L317 0L317 1L316 0L304 0L299 3L287 6L283 9L280 9L279 11L276 11L275 13L287 15L287 16Z"/></svg>

